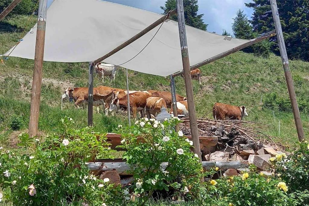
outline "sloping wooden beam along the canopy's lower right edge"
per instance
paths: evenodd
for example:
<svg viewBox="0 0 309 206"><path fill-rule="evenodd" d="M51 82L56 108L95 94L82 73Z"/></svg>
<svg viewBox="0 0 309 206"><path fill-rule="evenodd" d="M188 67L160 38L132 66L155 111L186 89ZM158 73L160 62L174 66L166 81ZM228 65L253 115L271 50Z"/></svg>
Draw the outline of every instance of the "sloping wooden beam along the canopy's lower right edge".
<svg viewBox="0 0 309 206"><path fill-rule="evenodd" d="M260 41L262 41L262 40L268 39L268 38L270 38L270 37L272 37L272 36L275 36L275 35L276 35L276 31L275 31L275 30L273 30L273 31L271 31L271 32L267 32L267 33L265 33L265 34L263 34L263 35L261 35L261 36L259 36L259 37L256 37L255 39L250 40L249 42L247 42L247 43L245 43L245 44L239 45L239 46L234 47L234 48L232 48L232 49L230 49L230 50L227 50L226 52L223 52L223 53L218 54L218 55L216 55L216 56L214 56L214 57L211 57L211 58L209 58L209 59L206 59L205 61L202 61L202 62L200 62L200 63L198 63L198 64L192 65L192 66L190 66L190 69L191 69L191 70L192 70L192 69L197 69L197 68L199 68L200 66L206 65L206 64L208 64L208 63L210 63L210 62L213 62L213 61L216 61L216 60L221 59L221 58L223 58L223 57L226 57L227 55L230 55L230 54L232 54L232 53L235 53L235 52L237 52L237 51L239 51L239 50L241 50L241 49L243 49L243 48L246 48L246 47L248 47L248 46L251 46L251 45L253 45L253 44L256 44L256 43L258 43L258 42L260 42ZM183 74L183 71L176 72L175 74L173 74L173 77L177 77L177 76L179 76L179 75L181 75L181 74Z"/></svg>

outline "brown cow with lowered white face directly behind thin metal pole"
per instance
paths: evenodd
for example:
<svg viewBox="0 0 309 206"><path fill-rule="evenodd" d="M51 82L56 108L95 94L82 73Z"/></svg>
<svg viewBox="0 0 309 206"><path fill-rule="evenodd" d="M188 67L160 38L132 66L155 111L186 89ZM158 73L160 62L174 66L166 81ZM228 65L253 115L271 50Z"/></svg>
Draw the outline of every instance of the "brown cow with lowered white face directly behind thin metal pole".
<svg viewBox="0 0 309 206"><path fill-rule="evenodd" d="M118 109L127 109L127 92L126 91L116 91L115 98L112 100L109 111L115 111ZM151 94L147 91L135 91L133 93L129 92L129 103L130 110L132 110L133 117L136 118L137 111L141 112L141 116L145 116L146 101Z"/></svg>

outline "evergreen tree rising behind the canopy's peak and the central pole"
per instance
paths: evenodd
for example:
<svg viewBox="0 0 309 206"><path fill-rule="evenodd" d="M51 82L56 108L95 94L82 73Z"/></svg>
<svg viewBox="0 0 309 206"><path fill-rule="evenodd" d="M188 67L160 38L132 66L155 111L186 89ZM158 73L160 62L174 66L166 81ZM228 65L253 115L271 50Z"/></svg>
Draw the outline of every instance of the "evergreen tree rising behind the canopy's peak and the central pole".
<svg viewBox="0 0 309 206"><path fill-rule="evenodd" d="M189 26L206 31L208 24L205 24L204 20L202 19L204 14L197 15L198 12L197 0L183 0L183 4L184 4L185 23ZM167 0L165 2L165 6L160 6L160 8L164 11L163 14L167 14L167 12L176 8L176 0ZM170 19L177 21L177 16L173 15L170 17Z"/></svg>

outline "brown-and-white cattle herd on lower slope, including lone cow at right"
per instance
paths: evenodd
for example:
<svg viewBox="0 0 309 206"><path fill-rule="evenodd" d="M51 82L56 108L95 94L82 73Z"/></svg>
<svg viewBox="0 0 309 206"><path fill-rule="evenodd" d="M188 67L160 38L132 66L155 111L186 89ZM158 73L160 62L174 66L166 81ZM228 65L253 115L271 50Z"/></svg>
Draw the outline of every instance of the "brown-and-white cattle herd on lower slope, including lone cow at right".
<svg viewBox="0 0 309 206"><path fill-rule="evenodd" d="M99 106L104 105L105 115L108 115L108 111L113 115L114 111L127 110L127 95L127 90L108 86L95 87L93 88L93 104L97 107L97 112L99 112ZM78 108L83 107L88 103L88 87L68 87L62 95L62 99L74 101ZM170 113L173 113L171 93L167 91L129 91L129 103L135 118L138 111L141 117L144 117L145 114L147 118L151 118L151 115L156 117L162 106L171 108ZM176 94L176 106L178 114L189 115L186 97ZM214 104L213 115L215 120L241 120L243 116L248 116L245 106L237 107L222 103Z"/></svg>

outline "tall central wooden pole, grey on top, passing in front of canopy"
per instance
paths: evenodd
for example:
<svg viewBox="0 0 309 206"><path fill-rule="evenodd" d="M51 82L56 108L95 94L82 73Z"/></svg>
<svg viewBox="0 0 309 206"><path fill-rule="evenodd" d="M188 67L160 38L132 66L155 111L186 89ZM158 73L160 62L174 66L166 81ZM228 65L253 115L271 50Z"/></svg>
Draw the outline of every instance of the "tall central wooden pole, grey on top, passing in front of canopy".
<svg viewBox="0 0 309 206"><path fill-rule="evenodd" d="M200 140L198 139L196 111L195 111L195 104L194 104L194 99L193 99L193 89L192 89L192 81L191 81L191 73L190 73L186 28L185 28L185 23L184 23L184 5L183 5L182 0L176 0L176 4L177 4L177 16L178 16L178 27L179 27L179 37L180 37L181 56L182 56L182 66L184 69L184 82L186 86L186 93L187 93L187 99L188 99L191 136L192 136L193 145L194 145L194 153L198 155L198 157L200 158L200 162L202 162Z"/></svg>

